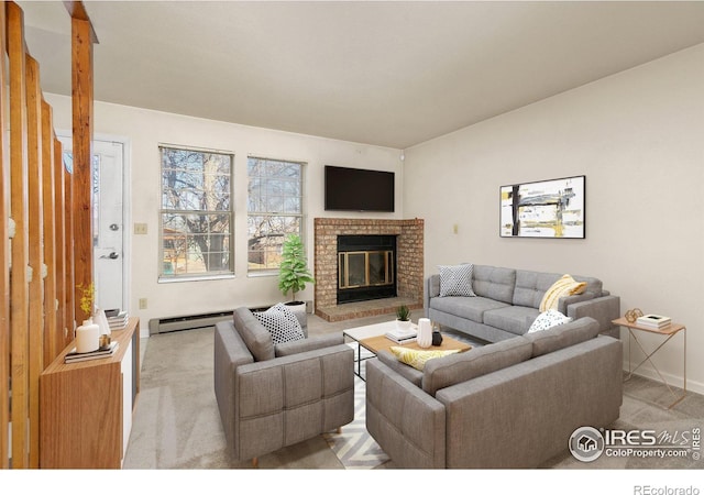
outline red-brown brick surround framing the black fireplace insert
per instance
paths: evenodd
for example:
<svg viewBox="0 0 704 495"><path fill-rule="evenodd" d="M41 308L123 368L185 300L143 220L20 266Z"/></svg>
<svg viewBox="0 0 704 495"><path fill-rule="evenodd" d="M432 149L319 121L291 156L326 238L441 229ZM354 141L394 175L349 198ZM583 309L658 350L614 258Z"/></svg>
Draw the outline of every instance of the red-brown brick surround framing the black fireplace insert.
<svg viewBox="0 0 704 495"><path fill-rule="evenodd" d="M316 218L316 315L327 321L394 312L399 304L422 308L424 220ZM396 235L397 297L338 306L338 235ZM384 304L386 301L387 304Z"/></svg>

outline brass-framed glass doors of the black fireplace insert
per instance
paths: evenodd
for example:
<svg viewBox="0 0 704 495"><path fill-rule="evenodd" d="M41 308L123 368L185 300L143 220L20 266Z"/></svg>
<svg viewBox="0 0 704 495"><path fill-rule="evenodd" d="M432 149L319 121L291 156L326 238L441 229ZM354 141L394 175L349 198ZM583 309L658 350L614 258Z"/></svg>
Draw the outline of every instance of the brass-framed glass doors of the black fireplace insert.
<svg viewBox="0 0 704 495"><path fill-rule="evenodd" d="M338 256L340 289L394 284L393 251L346 251Z"/></svg>

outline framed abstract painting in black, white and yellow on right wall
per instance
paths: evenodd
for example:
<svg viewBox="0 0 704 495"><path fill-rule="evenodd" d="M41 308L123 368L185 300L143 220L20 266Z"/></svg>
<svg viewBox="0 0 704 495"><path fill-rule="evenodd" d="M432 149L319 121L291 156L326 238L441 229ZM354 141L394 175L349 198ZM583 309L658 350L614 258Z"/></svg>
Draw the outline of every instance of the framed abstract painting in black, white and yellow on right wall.
<svg viewBox="0 0 704 495"><path fill-rule="evenodd" d="M502 238L584 239L585 176L501 187Z"/></svg>

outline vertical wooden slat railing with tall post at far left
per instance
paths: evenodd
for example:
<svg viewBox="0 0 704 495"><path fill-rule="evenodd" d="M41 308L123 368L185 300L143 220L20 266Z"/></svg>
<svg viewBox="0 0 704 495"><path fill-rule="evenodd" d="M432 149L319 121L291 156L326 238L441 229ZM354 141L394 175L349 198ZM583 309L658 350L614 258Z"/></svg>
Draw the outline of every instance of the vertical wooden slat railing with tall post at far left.
<svg viewBox="0 0 704 495"><path fill-rule="evenodd" d="M22 9L0 4L0 468L40 466L38 383L73 340L79 286L92 283L92 43L72 22L74 173L66 170ZM7 63L6 63L7 61ZM66 418L70 420L70 418ZM10 438L12 440L10 441Z"/></svg>

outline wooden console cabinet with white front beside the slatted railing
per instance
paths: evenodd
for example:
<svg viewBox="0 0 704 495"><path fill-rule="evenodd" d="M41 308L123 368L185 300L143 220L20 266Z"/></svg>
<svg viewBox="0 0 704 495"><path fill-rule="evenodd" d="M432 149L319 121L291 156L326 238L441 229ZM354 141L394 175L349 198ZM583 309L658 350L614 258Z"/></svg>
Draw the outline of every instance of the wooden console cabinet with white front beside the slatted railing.
<svg viewBox="0 0 704 495"><path fill-rule="evenodd" d="M40 468L121 469L140 391L140 320L113 330L106 359L65 364L69 344L40 377Z"/></svg>

